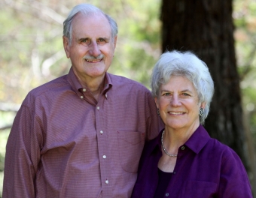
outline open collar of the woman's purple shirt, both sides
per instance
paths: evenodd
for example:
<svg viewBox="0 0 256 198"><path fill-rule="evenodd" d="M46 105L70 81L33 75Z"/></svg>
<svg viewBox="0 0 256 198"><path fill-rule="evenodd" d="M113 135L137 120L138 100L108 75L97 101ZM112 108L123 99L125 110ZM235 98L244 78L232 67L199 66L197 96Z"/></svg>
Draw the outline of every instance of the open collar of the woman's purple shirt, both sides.
<svg viewBox="0 0 256 198"><path fill-rule="evenodd" d="M152 141L151 153L157 148L161 150L162 133L163 133L163 130L160 131L160 133L155 139L151 140ZM192 134L192 136L190 136L190 138L187 139L187 142L185 142L184 145L187 145L188 148L190 148L192 151L198 154L202 150L202 148L206 145L206 143L209 141L210 138L211 137L207 133L206 129L202 125L200 125L197 128L197 130L195 130L195 132Z"/></svg>

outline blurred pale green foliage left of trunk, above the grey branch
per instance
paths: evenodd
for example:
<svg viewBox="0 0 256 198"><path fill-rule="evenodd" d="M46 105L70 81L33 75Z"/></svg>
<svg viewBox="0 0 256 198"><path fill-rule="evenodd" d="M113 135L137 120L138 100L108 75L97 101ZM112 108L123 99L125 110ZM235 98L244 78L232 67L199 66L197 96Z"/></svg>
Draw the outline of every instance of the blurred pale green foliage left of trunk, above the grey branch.
<svg viewBox="0 0 256 198"><path fill-rule="evenodd" d="M0 101L20 104L31 89L66 74L70 68L62 49L62 21L73 6L84 1L29 2L10 1L0 12L0 23L5 27L0 30ZM110 72L148 86L148 71L160 55L160 0L87 3L117 20L117 60Z"/></svg>

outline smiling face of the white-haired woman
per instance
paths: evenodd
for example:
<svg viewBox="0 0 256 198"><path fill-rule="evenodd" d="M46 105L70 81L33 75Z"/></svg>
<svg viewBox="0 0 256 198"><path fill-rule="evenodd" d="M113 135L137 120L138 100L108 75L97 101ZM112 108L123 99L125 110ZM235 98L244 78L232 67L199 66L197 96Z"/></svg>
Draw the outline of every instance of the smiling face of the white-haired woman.
<svg viewBox="0 0 256 198"><path fill-rule="evenodd" d="M186 77L172 76L160 86L155 102L166 127L188 130L199 126L199 110L203 105L199 104L197 91Z"/></svg>

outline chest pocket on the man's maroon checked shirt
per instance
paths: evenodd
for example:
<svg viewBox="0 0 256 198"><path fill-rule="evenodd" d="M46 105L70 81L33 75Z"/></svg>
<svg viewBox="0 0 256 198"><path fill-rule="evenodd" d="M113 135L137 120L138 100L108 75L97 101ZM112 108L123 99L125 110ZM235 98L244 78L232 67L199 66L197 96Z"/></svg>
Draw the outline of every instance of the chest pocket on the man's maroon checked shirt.
<svg viewBox="0 0 256 198"><path fill-rule="evenodd" d="M117 136L120 163L123 170L136 173L145 144L145 133L117 131Z"/></svg>

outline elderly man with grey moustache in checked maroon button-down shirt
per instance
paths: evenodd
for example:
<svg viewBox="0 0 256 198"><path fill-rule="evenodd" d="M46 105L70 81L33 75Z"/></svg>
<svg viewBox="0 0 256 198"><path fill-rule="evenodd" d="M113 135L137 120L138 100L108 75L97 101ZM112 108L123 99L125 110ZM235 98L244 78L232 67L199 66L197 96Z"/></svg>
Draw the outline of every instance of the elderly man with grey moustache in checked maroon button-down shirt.
<svg viewBox="0 0 256 198"><path fill-rule="evenodd" d="M64 22L69 74L29 92L6 147L3 197L130 197L160 117L151 92L108 74L117 24L92 5Z"/></svg>

